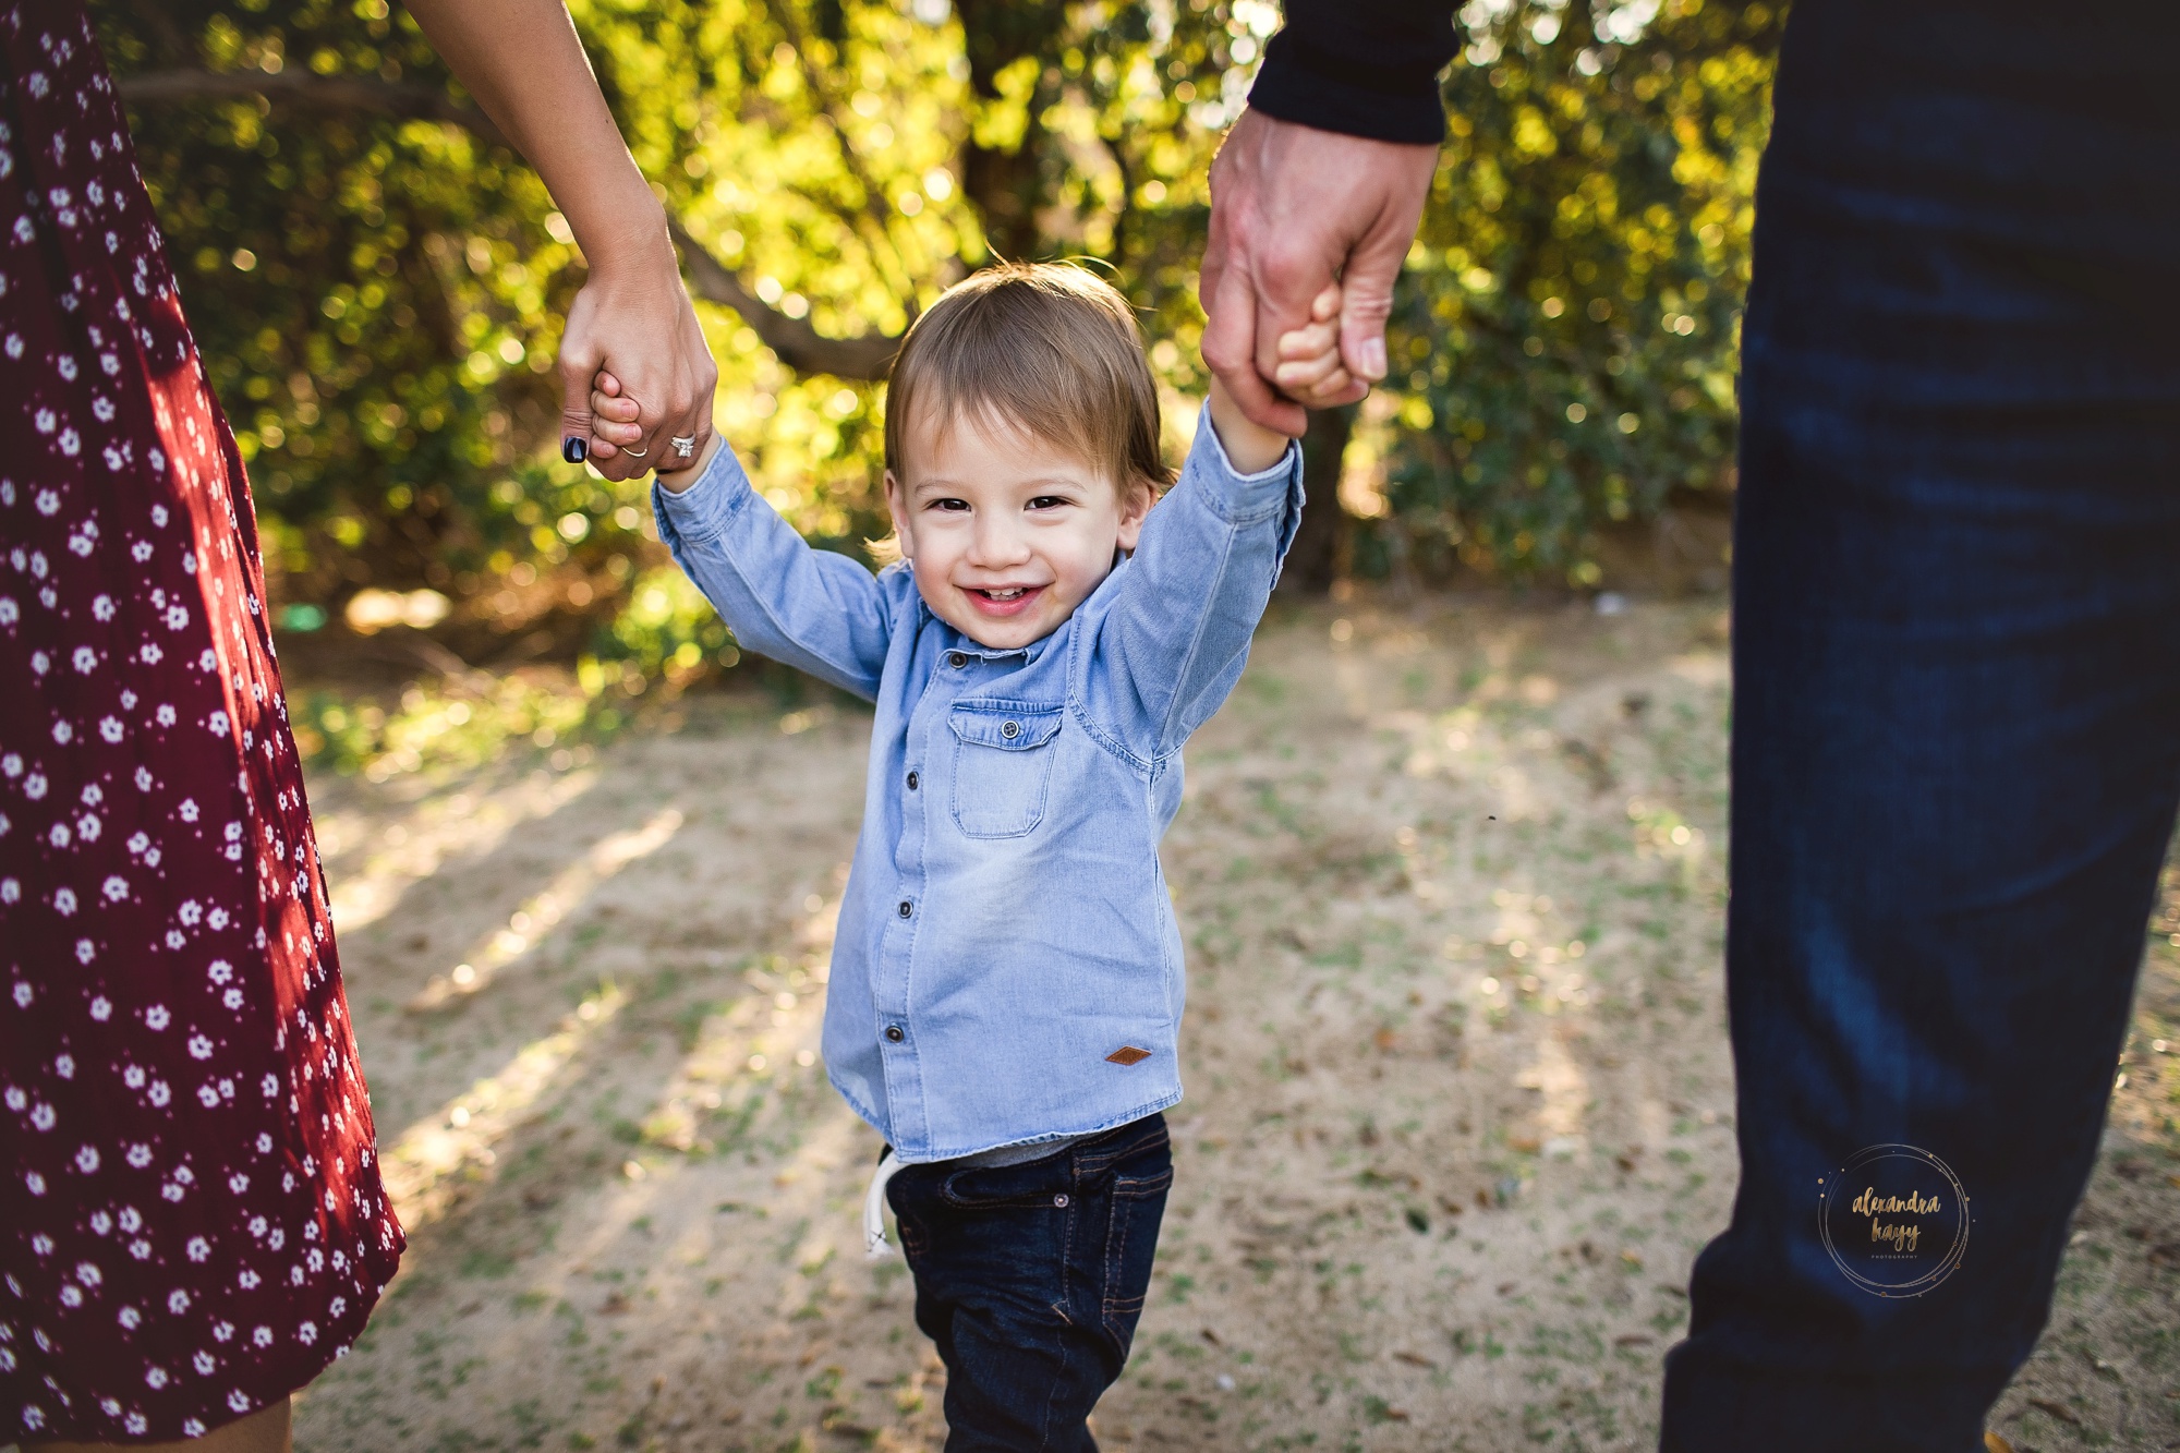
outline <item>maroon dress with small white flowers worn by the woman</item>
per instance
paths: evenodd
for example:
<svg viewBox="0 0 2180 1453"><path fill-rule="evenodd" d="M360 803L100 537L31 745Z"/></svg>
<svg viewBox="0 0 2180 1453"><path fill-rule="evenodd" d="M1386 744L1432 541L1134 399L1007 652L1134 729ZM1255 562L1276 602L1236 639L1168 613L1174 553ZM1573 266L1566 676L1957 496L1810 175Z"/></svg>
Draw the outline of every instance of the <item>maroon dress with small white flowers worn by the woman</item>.
<svg viewBox="0 0 2180 1453"><path fill-rule="evenodd" d="M76 0L0 0L0 1440L172 1440L401 1254L249 487Z"/></svg>

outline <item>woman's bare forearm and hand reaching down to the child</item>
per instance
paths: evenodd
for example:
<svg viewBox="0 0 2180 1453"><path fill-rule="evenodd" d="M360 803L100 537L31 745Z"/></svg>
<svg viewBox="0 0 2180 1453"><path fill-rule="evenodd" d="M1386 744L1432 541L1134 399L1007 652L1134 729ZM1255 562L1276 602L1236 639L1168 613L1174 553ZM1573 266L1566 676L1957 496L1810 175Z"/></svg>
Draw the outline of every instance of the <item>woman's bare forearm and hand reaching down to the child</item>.
<svg viewBox="0 0 2180 1453"><path fill-rule="evenodd" d="M560 336L562 434L626 480L680 463L667 443L711 439L719 371L680 281L667 216L637 170L562 0L408 0L438 52L552 190L591 277ZM600 369L641 406L641 443L593 430Z"/></svg>

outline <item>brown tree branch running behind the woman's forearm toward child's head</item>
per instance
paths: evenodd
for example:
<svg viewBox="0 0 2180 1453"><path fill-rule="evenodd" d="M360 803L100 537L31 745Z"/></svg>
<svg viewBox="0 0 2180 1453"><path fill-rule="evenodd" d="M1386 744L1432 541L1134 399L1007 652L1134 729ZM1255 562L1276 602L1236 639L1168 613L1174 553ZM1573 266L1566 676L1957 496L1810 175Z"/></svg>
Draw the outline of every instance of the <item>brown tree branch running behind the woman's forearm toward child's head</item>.
<svg viewBox="0 0 2180 1453"><path fill-rule="evenodd" d="M262 96L286 105L312 107L320 111L371 111L397 120L436 120L467 127L473 135L493 146L508 146L506 135L477 107L462 105L429 85L375 81L368 76L310 76L277 74L255 70L155 70L124 76L116 83L122 100L135 105L161 105L183 100L240 100ZM892 334L863 334L859 338L826 338L802 319L789 319L761 297L741 286L732 268L713 257L689 236L680 218L667 216L667 229L682 249L682 266L689 290L704 301L732 308L741 314L767 349L796 373L831 373L844 380L883 380L900 349L900 338Z"/></svg>

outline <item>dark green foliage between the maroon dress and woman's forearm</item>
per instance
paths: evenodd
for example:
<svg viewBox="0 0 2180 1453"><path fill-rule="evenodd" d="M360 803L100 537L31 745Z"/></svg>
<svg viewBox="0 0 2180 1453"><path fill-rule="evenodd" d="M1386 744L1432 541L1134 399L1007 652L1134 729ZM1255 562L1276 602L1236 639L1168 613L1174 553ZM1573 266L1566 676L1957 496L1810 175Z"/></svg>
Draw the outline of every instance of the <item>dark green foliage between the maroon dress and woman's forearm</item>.
<svg viewBox="0 0 2180 1453"><path fill-rule="evenodd" d="M120 76L246 72L445 92L384 0L96 7ZM532 554L491 504L549 428L580 268L536 177L458 127L264 98L133 116L140 164L275 567L301 596L453 585ZM578 471L567 471L569 482Z"/></svg>

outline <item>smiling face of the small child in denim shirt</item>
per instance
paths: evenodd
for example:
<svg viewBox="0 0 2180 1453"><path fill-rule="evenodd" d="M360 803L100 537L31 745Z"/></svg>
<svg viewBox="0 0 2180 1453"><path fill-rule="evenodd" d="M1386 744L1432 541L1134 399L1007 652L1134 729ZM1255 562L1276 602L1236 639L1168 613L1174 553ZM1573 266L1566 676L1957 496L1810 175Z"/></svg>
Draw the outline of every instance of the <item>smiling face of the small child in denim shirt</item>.
<svg viewBox="0 0 2180 1453"><path fill-rule="evenodd" d="M924 412L924 410L918 410ZM931 613L994 650L1038 641L1134 550L1151 487L1005 419L916 419L903 471L885 471L900 554Z"/></svg>

